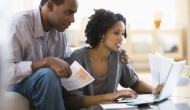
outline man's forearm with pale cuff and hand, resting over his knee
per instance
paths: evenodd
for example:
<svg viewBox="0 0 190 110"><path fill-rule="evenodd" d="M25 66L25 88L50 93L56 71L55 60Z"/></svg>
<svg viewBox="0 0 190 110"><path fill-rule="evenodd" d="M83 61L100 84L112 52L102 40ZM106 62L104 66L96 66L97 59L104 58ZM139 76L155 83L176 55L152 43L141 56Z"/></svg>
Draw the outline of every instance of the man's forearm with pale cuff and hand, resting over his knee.
<svg viewBox="0 0 190 110"><path fill-rule="evenodd" d="M46 57L35 61L20 61L17 63L9 62L7 64L7 73L5 74L7 84L18 83L43 67L52 68L60 78L68 78L71 75L69 64L55 57Z"/></svg>

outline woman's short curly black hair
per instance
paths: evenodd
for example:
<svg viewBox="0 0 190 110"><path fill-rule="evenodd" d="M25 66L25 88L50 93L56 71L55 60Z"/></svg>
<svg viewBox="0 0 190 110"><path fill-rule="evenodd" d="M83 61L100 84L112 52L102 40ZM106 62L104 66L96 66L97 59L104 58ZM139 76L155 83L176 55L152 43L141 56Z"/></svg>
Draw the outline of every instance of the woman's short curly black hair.
<svg viewBox="0 0 190 110"><path fill-rule="evenodd" d="M92 48L96 47L102 39L102 35L107 32L116 22L122 21L125 24L124 38L127 37L126 19L123 15L113 13L110 10L98 9L89 17L85 29L86 43L90 44Z"/></svg>

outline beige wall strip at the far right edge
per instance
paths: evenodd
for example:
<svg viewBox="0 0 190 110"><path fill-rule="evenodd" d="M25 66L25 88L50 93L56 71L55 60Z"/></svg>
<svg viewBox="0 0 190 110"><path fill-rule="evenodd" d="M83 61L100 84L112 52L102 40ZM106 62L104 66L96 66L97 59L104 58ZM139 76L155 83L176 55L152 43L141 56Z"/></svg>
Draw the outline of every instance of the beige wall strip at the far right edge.
<svg viewBox="0 0 190 110"><path fill-rule="evenodd" d="M190 4L189 0L175 0L175 26L184 29L184 55L187 65L190 65Z"/></svg>

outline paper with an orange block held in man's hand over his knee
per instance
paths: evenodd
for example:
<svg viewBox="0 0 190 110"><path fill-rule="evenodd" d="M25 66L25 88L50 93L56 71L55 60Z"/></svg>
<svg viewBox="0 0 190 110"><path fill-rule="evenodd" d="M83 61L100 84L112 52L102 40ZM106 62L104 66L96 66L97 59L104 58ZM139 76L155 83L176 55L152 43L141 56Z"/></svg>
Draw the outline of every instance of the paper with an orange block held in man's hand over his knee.
<svg viewBox="0 0 190 110"><path fill-rule="evenodd" d="M94 78L77 61L74 61L70 68L72 75L69 78L60 78L66 90L79 89L94 81Z"/></svg>

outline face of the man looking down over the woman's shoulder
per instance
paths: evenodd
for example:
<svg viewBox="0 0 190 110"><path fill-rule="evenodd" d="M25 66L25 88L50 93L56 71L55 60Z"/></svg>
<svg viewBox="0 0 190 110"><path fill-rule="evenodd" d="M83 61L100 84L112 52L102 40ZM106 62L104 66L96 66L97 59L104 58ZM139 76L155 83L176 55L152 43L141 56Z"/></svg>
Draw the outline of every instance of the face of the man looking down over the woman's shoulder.
<svg viewBox="0 0 190 110"><path fill-rule="evenodd" d="M74 14L77 12L77 8L77 0L65 0L59 6L54 3L48 15L50 25L60 32L65 31L75 21Z"/></svg>

